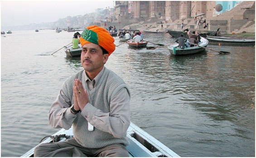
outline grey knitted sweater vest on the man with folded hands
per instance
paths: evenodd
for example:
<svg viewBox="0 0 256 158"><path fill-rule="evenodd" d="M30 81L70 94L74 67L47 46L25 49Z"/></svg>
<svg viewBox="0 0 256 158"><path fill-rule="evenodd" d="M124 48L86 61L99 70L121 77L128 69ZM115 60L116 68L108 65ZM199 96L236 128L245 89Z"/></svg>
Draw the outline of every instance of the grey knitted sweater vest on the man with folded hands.
<svg viewBox="0 0 256 158"><path fill-rule="evenodd" d="M84 89L87 89L87 85L85 84L85 79L83 76L83 71L84 70L81 70L77 74L72 75L63 84L63 88L68 91L68 98L72 102L72 104L72 86L74 84L74 80L81 80ZM94 92L94 95L88 97L89 102L97 109L100 109L102 112L110 112L111 98L115 96L121 88L126 88L130 96L130 91L125 82L114 72L106 69L105 67L104 73L102 74L101 79L96 86L96 91ZM94 128L93 131L88 131L87 120L81 115L80 112L77 113L77 117L72 125L74 138L76 139L77 143L86 148L97 149L110 144L127 145L129 143L126 136L122 138L114 138L114 136L110 133L98 130L97 128Z"/></svg>

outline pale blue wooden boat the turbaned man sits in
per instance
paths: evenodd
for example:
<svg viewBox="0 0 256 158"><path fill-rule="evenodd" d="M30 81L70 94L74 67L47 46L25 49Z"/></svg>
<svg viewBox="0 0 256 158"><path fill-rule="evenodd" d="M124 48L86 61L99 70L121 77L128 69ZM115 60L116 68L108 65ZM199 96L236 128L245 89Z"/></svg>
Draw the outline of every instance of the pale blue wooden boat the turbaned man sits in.
<svg viewBox="0 0 256 158"><path fill-rule="evenodd" d="M52 136L63 134L72 138L72 127L69 130L61 129ZM155 139L132 122L130 122L126 136L130 142L126 147L130 157L180 157L177 153L174 153L173 150L169 149L167 146L159 142L159 140ZM65 140L66 138L62 138L60 141L63 142ZM49 142L52 142L51 138L45 139L40 144ZM21 157L34 157L35 148L36 146L30 149L27 153L24 153Z"/></svg>

